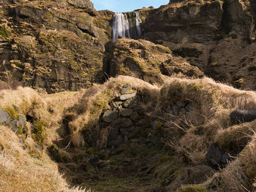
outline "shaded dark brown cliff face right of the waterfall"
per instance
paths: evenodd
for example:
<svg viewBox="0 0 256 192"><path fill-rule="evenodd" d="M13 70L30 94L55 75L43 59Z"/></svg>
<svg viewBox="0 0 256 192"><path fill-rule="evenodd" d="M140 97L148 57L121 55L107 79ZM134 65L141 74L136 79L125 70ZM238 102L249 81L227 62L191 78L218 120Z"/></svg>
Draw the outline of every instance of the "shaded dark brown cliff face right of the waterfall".
<svg viewBox="0 0 256 192"><path fill-rule="evenodd" d="M143 37L170 47L215 80L255 89L254 7L252 1L172 0L146 18Z"/></svg>

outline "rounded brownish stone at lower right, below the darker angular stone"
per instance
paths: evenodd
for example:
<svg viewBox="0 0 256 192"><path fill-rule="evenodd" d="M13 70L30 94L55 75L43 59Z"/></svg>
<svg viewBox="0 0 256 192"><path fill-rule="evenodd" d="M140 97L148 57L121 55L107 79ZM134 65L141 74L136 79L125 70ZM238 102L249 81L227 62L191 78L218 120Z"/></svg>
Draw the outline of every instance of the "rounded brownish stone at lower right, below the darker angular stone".
<svg viewBox="0 0 256 192"><path fill-rule="evenodd" d="M193 166L187 170L187 174L192 184L204 183L214 175L215 170L207 165Z"/></svg>

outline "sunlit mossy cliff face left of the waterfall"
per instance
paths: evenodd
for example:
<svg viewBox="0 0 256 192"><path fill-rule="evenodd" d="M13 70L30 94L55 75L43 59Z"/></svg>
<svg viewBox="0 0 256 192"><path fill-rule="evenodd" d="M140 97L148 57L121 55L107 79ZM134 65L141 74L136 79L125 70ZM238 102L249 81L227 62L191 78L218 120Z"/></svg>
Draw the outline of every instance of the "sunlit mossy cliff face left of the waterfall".
<svg viewBox="0 0 256 192"><path fill-rule="evenodd" d="M102 80L109 12L91 1L0 1L1 80L48 92ZM110 13L111 14L111 13Z"/></svg>

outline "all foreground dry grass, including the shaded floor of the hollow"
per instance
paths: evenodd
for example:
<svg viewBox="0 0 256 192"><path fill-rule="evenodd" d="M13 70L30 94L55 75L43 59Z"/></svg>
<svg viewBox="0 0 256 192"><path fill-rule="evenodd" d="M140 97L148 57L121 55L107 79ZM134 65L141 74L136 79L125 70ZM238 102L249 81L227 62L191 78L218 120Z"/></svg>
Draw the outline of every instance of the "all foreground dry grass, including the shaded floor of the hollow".
<svg viewBox="0 0 256 192"><path fill-rule="evenodd" d="M102 112L110 110L111 101L127 83L137 91L140 109L157 123L162 139L157 147L134 139L102 157L91 145L93 133L99 129ZM143 80L118 76L79 92L48 95L18 88L0 91L0 97L1 109L14 118L25 115L29 130L20 143L19 135L7 126L0 127L0 183L7 191L79 191L68 188L62 173L69 184L98 191L255 188L255 120L233 125L229 117L236 109L255 109L254 91L239 91L208 78L170 78L157 88ZM190 106L187 114L170 110L177 101ZM206 154L213 143L230 155L229 162L214 168L216 173L208 180L193 185L188 170L209 165Z"/></svg>

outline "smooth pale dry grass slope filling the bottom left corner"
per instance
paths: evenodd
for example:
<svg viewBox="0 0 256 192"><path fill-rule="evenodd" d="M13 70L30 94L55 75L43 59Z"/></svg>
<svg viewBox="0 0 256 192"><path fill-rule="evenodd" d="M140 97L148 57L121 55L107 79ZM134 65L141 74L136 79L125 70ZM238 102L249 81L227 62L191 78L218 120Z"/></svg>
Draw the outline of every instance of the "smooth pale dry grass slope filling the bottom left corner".
<svg viewBox="0 0 256 192"><path fill-rule="evenodd" d="M18 137L0 126L0 191L81 191L69 188L57 165L42 155L33 158L23 150Z"/></svg>

